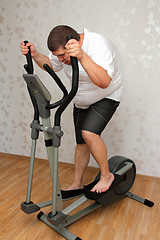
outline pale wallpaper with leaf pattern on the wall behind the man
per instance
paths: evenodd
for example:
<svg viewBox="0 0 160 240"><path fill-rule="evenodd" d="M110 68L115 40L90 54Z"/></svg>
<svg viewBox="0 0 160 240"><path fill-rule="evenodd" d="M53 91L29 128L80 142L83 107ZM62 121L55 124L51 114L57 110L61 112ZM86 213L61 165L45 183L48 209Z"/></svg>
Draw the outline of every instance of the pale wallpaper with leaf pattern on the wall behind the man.
<svg viewBox="0 0 160 240"><path fill-rule="evenodd" d="M25 57L20 41L33 41L48 54L46 39L58 24L83 27L109 38L119 52L125 91L103 138L109 157L120 154L136 162L137 172L160 177L160 1L159 0L1 0L0 1L0 152L30 155L32 108L22 79ZM36 74L55 99L60 92L47 73ZM69 82L63 72L67 88ZM65 135L60 160L73 162L72 106L63 115ZM46 158L43 137L37 157ZM94 159L90 165L97 166Z"/></svg>

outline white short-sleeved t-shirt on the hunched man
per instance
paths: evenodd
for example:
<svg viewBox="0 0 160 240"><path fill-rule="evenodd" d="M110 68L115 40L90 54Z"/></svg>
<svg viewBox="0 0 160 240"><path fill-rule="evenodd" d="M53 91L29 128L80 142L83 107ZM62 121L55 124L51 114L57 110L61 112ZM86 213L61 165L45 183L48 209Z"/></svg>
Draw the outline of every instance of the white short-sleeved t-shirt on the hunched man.
<svg viewBox="0 0 160 240"><path fill-rule="evenodd" d="M79 87L73 99L73 103L75 103L78 108L85 109L103 98L120 101L123 93L123 83L116 61L115 51L110 42L100 34L89 32L87 29L84 29L82 50L96 64L103 67L112 80L110 85L105 89L96 86L90 80L80 62L78 62ZM66 76L72 80L72 67L70 65L60 62L58 57L54 56L52 53L49 54L49 59L55 72L63 68Z"/></svg>

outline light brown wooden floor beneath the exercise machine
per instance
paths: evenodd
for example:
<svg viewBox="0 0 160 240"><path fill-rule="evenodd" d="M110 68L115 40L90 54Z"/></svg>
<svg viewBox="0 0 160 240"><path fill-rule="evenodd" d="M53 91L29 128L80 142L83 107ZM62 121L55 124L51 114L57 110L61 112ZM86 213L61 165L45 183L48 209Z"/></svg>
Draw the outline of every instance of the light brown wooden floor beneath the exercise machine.
<svg viewBox="0 0 160 240"><path fill-rule="evenodd" d="M63 240L64 238L37 219L37 213L21 211L25 201L29 160L25 157L0 154L0 239L3 240ZM59 164L63 187L73 178L73 167ZM36 160L32 201L51 199L48 162ZM84 182L90 182L96 171L88 168ZM149 208L129 198L110 207L100 207L68 227L83 240L160 240L160 179L137 176L132 192L154 201ZM85 204L86 206L86 204ZM50 207L43 209L47 214Z"/></svg>

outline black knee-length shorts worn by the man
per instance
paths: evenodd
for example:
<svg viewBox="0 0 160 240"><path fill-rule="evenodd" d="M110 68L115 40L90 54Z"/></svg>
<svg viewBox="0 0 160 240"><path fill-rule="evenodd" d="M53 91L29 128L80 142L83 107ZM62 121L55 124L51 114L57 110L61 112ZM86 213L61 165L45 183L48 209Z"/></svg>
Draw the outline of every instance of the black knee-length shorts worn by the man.
<svg viewBox="0 0 160 240"><path fill-rule="evenodd" d="M119 102L109 98L104 98L87 109L74 106L73 117L77 144L85 143L82 130L101 135L118 106Z"/></svg>

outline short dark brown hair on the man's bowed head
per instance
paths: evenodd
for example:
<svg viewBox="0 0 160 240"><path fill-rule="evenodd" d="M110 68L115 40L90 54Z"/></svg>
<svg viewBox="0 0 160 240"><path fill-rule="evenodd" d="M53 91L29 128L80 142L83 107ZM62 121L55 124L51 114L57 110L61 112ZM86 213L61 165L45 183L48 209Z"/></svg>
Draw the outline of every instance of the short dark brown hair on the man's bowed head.
<svg viewBox="0 0 160 240"><path fill-rule="evenodd" d="M69 26L59 25L53 28L47 40L49 50L56 51L60 46L65 48L67 35L72 35L77 41L80 39L80 35Z"/></svg>

